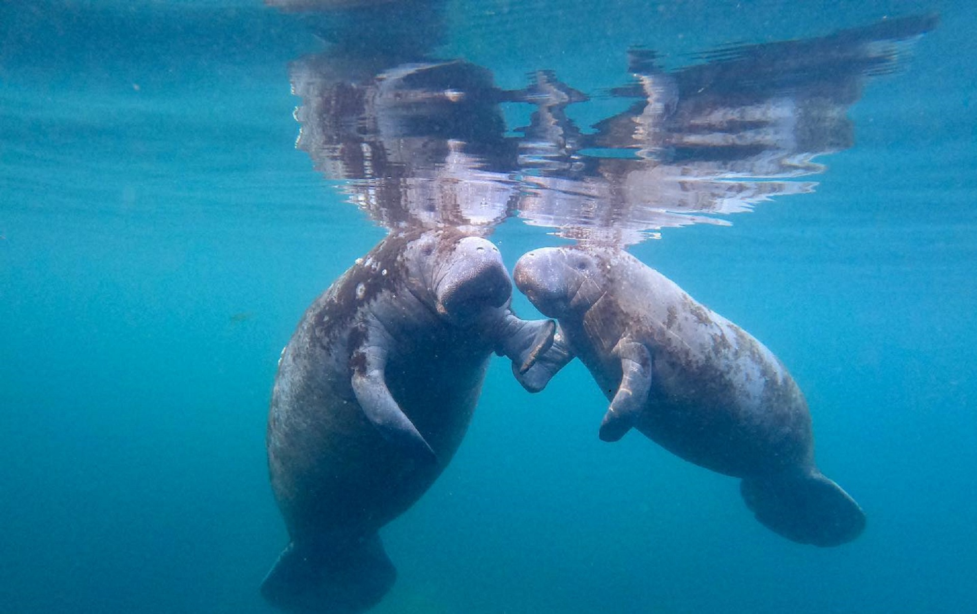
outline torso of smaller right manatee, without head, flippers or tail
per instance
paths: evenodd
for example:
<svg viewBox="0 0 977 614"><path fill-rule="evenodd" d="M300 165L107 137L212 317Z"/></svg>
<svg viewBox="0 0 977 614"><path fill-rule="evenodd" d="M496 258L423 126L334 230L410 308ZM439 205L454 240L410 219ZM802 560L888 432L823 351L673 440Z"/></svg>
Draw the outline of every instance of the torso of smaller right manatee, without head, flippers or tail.
<svg viewBox="0 0 977 614"><path fill-rule="evenodd" d="M677 456L729 475L810 464L807 403L780 360L633 256L622 253L612 264L602 316L622 322L652 355L639 430Z"/></svg>

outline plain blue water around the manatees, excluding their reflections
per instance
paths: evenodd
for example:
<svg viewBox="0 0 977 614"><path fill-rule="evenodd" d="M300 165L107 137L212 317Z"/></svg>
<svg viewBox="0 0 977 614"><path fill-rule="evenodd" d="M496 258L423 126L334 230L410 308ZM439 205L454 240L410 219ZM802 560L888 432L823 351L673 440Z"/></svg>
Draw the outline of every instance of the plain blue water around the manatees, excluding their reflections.
<svg viewBox="0 0 977 614"><path fill-rule="evenodd" d="M373 611L977 611L977 10L447 10L439 56L591 94L627 79L634 45L683 66L886 16L940 24L866 84L855 147L818 159L813 194L632 248L784 361L865 534L787 542L735 480L636 435L599 441L606 400L579 364L531 396L495 361L446 473L382 532L399 578ZM384 236L293 147L287 65L318 45L258 3L0 4L0 612L273 611L278 353ZM548 231L513 218L492 241L511 268L562 242Z"/></svg>

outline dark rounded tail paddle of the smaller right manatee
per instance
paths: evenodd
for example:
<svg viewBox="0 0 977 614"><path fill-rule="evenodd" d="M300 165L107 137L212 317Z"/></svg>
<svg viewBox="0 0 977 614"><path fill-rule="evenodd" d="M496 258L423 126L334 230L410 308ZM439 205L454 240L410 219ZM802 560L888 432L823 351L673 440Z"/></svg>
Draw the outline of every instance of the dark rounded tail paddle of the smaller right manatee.
<svg viewBox="0 0 977 614"><path fill-rule="evenodd" d="M745 478L743 501L768 529L799 544L840 546L865 529L865 512L817 469Z"/></svg>

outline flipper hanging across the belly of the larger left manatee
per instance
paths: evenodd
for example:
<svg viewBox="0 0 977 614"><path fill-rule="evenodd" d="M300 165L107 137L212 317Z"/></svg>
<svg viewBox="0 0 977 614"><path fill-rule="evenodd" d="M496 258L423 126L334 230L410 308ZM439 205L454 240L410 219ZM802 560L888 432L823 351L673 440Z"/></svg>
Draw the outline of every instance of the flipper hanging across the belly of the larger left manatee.
<svg viewBox="0 0 977 614"><path fill-rule="evenodd" d="M353 393L363 414L387 441L415 458L435 460L434 450L390 393L384 377L385 363L385 354L376 346L361 348L354 354Z"/></svg>

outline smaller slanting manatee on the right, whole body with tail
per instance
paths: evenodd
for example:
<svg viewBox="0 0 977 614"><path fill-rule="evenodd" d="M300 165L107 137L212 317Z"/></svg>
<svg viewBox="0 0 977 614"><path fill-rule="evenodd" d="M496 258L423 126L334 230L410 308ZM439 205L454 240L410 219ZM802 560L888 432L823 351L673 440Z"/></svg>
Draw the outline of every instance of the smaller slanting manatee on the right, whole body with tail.
<svg viewBox="0 0 977 614"><path fill-rule="evenodd" d="M837 546L862 532L862 509L815 466L803 394L743 329L615 248L536 249L514 279L559 322L552 347L516 373L527 389L576 356L611 401L601 439L634 427L682 459L743 478L757 519L795 542Z"/></svg>

